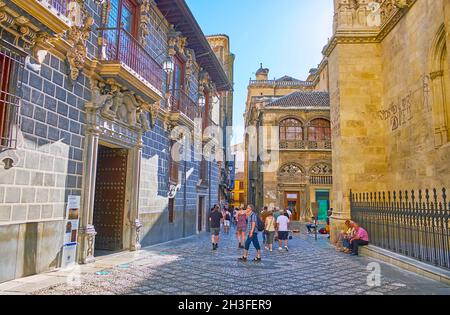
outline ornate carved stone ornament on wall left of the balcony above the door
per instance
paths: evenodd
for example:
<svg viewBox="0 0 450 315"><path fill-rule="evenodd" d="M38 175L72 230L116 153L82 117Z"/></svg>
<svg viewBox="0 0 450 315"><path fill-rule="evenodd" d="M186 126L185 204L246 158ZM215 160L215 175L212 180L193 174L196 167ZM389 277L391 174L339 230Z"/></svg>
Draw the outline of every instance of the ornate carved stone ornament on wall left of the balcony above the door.
<svg viewBox="0 0 450 315"><path fill-rule="evenodd" d="M72 46L67 52L67 60L70 67L70 78L73 81L78 79L80 71L83 69L87 57L86 41L92 31L91 27L94 25L94 19L87 14L82 3L83 1L80 3L79 0L70 3L72 13L69 16L71 15L71 19L75 23L67 32L67 41Z"/></svg>

